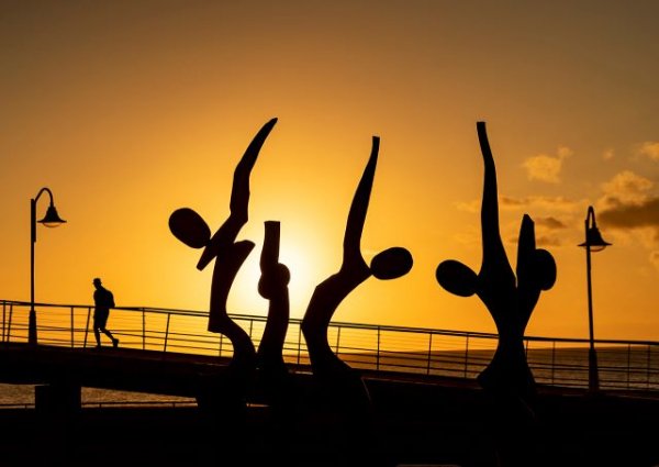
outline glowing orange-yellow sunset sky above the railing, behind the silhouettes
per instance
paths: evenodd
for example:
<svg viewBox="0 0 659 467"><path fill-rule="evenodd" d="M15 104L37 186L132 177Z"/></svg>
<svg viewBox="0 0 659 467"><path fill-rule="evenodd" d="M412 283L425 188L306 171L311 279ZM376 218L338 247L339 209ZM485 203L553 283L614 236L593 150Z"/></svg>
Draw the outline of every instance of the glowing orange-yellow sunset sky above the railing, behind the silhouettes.
<svg viewBox="0 0 659 467"><path fill-rule="evenodd" d="M659 3L656 1L11 1L0 3L0 298L204 310L212 268L168 230L181 207L214 231L235 164L279 119L252 177L257 247L231 311L256 292L264 221L281 222L291 315L337 270L370 152L380 159L362 249L414 267L369 279L335 321L494 331L476 297L442 289L448 258L480 267L485 121L513 266L522 215L558 279L527 334L588 336L589 204L614 245L593 255L595 337L659 338ZM40 216L47 207L40 199Z"/></svg>

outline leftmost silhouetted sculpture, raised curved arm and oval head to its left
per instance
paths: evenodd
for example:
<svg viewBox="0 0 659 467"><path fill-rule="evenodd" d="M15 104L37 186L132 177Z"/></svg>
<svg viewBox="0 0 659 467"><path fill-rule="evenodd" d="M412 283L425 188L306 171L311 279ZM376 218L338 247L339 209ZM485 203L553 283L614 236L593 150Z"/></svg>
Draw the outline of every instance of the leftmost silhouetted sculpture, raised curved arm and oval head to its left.
<svg viewBox="0 0 659 467"><path fill-rule="evenodd" d="M248 220L249 176L261 146L277 123L277 119L267 122L256 134L234 171L228 219L211 237L205 221L193 210L181 208L171 213L169 229L171 233L192 248L204 248L197 268L202 270L215 258L211 285L209 331L226 335L233 345L233 358L228 366L227 378L222 388L228 399L242 399L256 369L256 349L249 335L234 322L226 311L226 300L238 269L252 252L255 244L249 241L236 242L236 236ZM210 385L212 388L214 385ZM222 398L212 393L200 397L200 404L221 403Z"/></svg>

